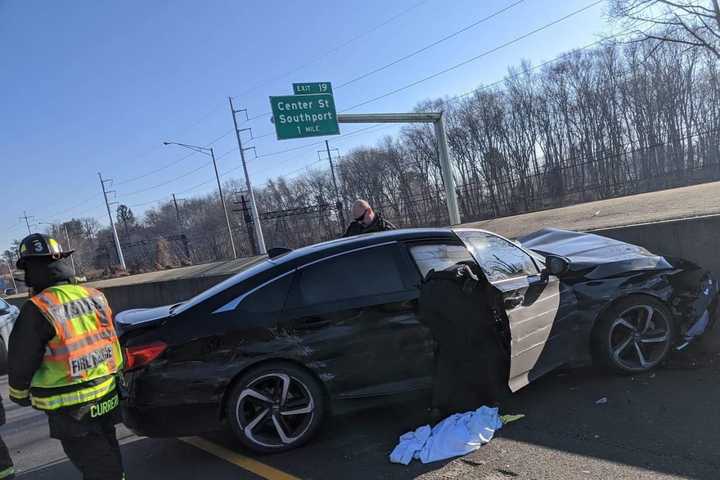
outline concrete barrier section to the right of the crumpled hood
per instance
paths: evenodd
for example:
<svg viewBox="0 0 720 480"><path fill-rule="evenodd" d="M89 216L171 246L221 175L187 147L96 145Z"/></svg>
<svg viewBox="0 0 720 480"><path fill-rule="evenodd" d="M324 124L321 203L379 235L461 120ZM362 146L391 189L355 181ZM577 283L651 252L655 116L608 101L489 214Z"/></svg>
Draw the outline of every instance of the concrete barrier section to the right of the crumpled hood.
<svg viewBox="0 0 720 480"><path fill-rule="evenodd" d="M690 260L720 279L720 215L595 230L667 257Z"/></svg>

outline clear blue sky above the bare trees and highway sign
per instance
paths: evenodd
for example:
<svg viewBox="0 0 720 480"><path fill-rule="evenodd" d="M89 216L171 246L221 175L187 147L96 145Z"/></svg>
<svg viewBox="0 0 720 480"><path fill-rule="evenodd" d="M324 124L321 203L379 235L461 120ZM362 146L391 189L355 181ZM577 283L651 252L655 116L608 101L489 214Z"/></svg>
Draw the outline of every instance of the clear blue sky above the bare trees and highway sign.
<svg viewBox="0 0 720 480"><path fill-rule="evenodd" d="M133 207L136 214L154 200L169 199L172 192L188 197L213 191L212 168L203 167L205 157L173 164L187 152L163 147L162 141L206 145L229 132L229 95L248 108L251 117L260 115L269 110L268 96L291 93L293 81L340 85L514 1L0 0L0 250L27 233L18 219L23 211L41 222L95 216L107 223L97 172L116 181L117 201L138 205ZM589 3L525 0L450 41L336 89L338 110L443 70ZM407 111L423 99L496 81L523 59L539 63L587 45L609 30L605 9L605 4L597 5L353 112ZM289 71L293 73L283 76ZM273 132L266 116L247 126L255 136ZM341 131L362 127L341 125ZM330 141L348 151L392 131L375 129ZM277 141L269 135L251 142L258 154L270 154L250 162L253 183L302 173L304 165L318 158L318 147L310 145L318 140ZM303 145L309 146L273 155ZM226 135L213 146L221 157L220 171L230 171L224 179L242 179L234 136ZM161 183L165 185L151 188Z"/></svg>

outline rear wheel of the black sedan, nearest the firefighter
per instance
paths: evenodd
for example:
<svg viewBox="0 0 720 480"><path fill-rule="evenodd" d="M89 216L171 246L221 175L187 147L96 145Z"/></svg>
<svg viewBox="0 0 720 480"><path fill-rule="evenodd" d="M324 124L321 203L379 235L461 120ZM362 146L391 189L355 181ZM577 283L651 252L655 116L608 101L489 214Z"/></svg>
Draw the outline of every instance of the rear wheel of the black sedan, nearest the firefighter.
<svg viewBox="0 0 720 480"><path fill-rule="evenodd" d="M225 405L240 442L258 453L291 450L307 443L325 413L320 382L290 363L270 363L243 374Z"/></svg>

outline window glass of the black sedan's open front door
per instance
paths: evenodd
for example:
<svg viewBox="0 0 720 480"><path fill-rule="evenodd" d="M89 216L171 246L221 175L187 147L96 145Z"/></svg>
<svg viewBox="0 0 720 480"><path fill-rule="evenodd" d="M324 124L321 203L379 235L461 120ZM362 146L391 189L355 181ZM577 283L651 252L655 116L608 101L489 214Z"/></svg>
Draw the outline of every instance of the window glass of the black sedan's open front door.
<svg viewBox="0 0 720 480"><path fill-rule="evenodd" d="M539 273L530 255L504 238L485 232L460 232L459 236L491 282Z"/></svg>

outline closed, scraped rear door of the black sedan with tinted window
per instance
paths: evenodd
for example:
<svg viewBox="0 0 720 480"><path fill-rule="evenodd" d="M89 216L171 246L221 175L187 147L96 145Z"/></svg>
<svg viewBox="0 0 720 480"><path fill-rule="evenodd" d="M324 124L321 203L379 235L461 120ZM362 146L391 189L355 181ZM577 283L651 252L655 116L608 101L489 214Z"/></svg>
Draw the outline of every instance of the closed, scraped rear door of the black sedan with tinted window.
<svg viewBox="0 0 720 480"><path fill-rule="evenodd" d="M338 398L421 388L418 381L427 371L412 356L418 325L413 268L393 242L297 269L280 327L327 372Z"/></svg>

